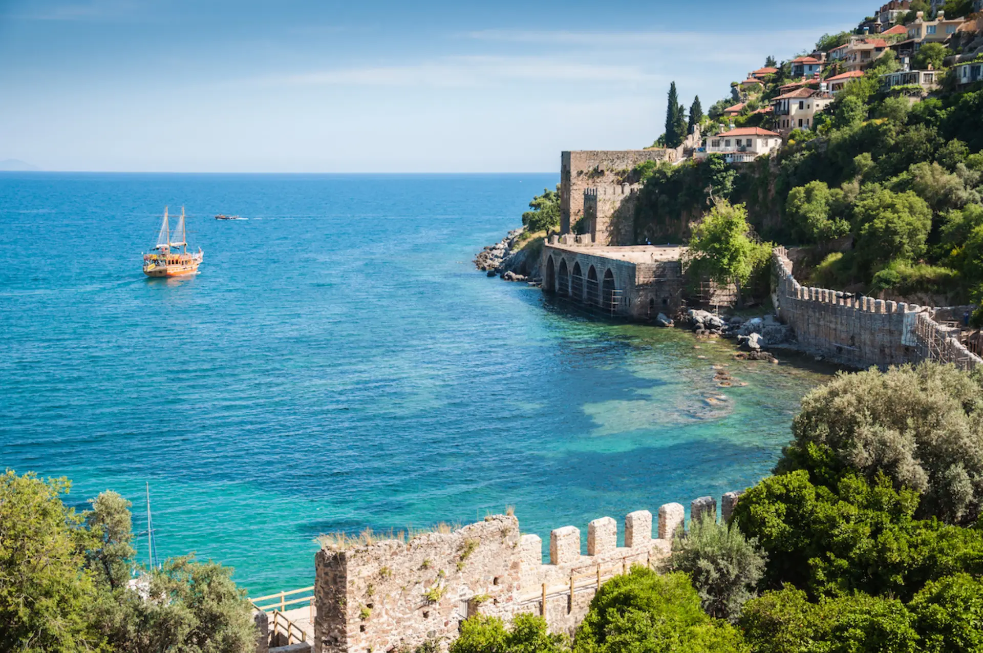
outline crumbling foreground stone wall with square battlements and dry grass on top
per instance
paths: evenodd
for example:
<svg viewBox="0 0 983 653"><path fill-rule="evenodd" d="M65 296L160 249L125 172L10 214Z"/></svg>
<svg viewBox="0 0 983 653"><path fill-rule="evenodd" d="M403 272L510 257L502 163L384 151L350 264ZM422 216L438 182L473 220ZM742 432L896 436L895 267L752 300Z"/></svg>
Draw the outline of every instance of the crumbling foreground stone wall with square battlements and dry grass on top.
<svg viewBox="0 0 983 653"><path fill-rule="evenodd" d="M724 519L737 498L723 496ZM707 513L716 518L715 499L691 503L691 521ZM541 615L552 632L572 634L598 587L632 564L657 566L684 520L682 505L661 506L653 537L653 514L631 512L618 546L614 519L595 519L587 527L586 556L580 529L563 526L549 534L548 564L541 538L522 535L512 515L408 542L323 548L316 556L315 651L381 653L434 639L445 649L460 623L479 613L505 620Z"/></svg>

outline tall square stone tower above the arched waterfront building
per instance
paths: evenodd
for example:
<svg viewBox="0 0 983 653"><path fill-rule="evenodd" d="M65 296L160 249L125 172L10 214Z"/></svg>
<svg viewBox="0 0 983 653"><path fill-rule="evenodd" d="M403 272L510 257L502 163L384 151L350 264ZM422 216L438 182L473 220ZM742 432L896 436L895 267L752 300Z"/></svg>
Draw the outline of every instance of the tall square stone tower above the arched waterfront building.
<svg viewBox="0 0 983 653"><path fill-rule="evenodd" d="M645 161L675 161L674 149L618 149L564 151L560 154L560 233L570 233L570 228L584 216L584 191L598 189L597 217L602 237L598 242L627 245L627 241L609 240L609 218L618 210L624 199L630 198L630 189L622 184L628 171ZM624 191L624 192L622 192ZM602 200L604 198L604 200ZM623 234L614 234L624 238Z"/></svg>

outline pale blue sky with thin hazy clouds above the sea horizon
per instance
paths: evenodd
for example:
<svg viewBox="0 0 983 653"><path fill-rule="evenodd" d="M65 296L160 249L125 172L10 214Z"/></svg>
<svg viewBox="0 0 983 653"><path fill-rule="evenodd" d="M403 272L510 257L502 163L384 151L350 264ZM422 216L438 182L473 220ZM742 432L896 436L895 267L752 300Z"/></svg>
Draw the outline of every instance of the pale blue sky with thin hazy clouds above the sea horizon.
<svg viewBox="0 0 983 653"><path fill-rule="evenodd" d="M557 171L651 145L670 81L706 109L878 2L0 0L0 159Z"/></svg>

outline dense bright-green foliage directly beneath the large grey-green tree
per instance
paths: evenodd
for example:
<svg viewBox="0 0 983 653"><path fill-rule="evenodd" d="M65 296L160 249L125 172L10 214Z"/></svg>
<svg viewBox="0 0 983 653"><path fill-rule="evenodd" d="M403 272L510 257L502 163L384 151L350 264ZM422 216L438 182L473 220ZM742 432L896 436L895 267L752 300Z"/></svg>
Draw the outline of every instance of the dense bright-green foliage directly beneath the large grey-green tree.
<svg viewBox="0 0 983 653"><path fill-rule="evenodd" d="M773 587L791 583L813 597L862 591L906 600L931 580L983 571L983 532L915 519L917 505L916 492L898 492L883 476L868 484L848 474L831 488L798 470L748 490L734 520L768 553Z"/></svg>

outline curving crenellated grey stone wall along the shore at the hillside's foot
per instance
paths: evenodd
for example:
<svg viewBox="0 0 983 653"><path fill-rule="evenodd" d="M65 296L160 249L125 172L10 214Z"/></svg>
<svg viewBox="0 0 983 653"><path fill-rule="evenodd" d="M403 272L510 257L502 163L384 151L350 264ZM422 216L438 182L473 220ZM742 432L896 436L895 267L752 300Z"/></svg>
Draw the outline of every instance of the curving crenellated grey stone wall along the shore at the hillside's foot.
<svg viewBox="0 0 983 653"><path fill-rule="evenodd" d="M795 332L796 349L855 368L900 365L922 360L954 363L961 369L983 360L958 340L954 309L937 309L855 297L825 288L802 286L792 275L787 250L775 249L773 300L779 318Z"/></svg>

